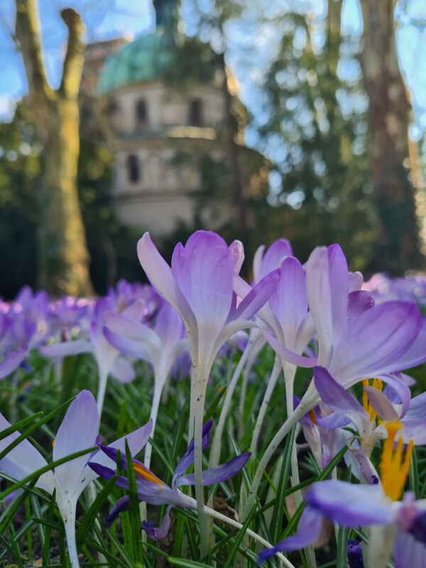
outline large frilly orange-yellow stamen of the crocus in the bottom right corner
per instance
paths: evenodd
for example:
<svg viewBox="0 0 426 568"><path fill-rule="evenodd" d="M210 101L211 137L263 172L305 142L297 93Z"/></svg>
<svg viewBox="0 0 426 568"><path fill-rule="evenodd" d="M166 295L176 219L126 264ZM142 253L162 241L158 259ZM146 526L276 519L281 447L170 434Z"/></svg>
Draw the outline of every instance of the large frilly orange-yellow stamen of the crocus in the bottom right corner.
<svg viewBox="0 0 426 568"><path fill-rule="evenodd" d="M383 444L380 461L381 482L386 495L392 501L398 501L410 471L414 442L413 439L410 439L403 456L403 437L398 439L397 447L395 450L393 449L396 433L403 425L399 420L396 420L395 422L386 422L385 427L388 431L388 437Z"/></svg>

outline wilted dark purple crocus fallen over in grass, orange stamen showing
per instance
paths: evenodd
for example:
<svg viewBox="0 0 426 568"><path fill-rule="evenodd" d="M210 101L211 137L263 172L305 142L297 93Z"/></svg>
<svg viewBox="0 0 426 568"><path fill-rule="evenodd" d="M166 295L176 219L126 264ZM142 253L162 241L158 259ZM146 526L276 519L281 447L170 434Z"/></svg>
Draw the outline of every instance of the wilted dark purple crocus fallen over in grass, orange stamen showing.
<svg viewBox="0 0 426 568"><path fill-rule="evenodd" d="M210 430L213 421L209 420L202 428L202 449L209 446ZM102 450L107 456L116 461L116 449L111 447L101 446ZM163 505L168 503L165 516L159 528L156 528L151 522L142 522L142 528L146 531L147 535L153 540L159 540L167 535L170 528L170 509L174 506L183 507L187 509L197 509L197 501L194 498L185 495L180 491L180 487L184 485L195 485L195 474L186 474L188 467L194 463L194 440L190 443L186 454L180 459L173 475L171 486L166 485L159 479L152 471L144 466L140 461L133 460L133 468L136 476L136 488L138 491L139 501L151 503L151 505ZM241 454L225 464L220 464L211 469L204 469L202 472L202 484L204 486L218 484L226 481L230 477L236 475L244 468L247 461L249 461L250 454ZM123 469L127 470L127 463L125 457L122 457ZM116 474L113 469L99 463L89 462L89 466L96 471L96 473L104 477L104 479L111 479ZM128 488L128 479L124 476L119 476L116 481L120 487ZM124 496L117 501L107 518L107 525L110 526L114 523L117 515L129 508L129 496Z"/></svg>

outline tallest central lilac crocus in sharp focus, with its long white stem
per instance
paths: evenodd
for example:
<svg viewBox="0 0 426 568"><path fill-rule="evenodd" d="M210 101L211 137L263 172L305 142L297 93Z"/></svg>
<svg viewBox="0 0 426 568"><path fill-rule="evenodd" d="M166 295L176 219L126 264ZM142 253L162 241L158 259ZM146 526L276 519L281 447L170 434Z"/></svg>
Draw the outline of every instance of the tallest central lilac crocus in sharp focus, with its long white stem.
<svg viewBox="0 0 426 568"><path fill-rule="evenodd" d="M195 435L195 494L207 552L207 522L202 489L202 417L209 372L220 347L239 329L251 327L251 317L263 306L278 279L267 275L236 307L233 276L241 266L242 244L226 246L218 234L197 231L182 246L175 246L171 268L153 245L148 233L138 242L138 257L149 280L170 302L185 324L192 356L190 437Z"/></svg>

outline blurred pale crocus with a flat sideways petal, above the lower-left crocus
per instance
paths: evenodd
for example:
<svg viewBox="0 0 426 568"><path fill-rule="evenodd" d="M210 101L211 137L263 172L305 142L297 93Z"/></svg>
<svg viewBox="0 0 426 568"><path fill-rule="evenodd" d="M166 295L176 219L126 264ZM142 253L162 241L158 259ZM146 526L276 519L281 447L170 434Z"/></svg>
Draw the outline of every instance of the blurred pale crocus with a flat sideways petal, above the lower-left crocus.
<svg viewBox="0 0 426 568"><path fill-rule="evenodd" d="M133 366L127 359L120 356L120 352L112 346L104 336L104 318L107 312L114 310L114 303L111 298L104 297L97 301L94 307L93 319L90 323L89 341L87 339L76 339L75 341L67 341L55 343L51 345L43 345L40 347L40 353L47 356L67 356L78 355L80 353L92 353L97 361L99 368L99 383L97 392L97 405L99 414L102 414L104 405L105 391L107 388L107 378L109 373L114 375L122 383L133 381L135 373ZM145 304L143 301L135 302L124 311L124 315L140 320Z"/></svg>

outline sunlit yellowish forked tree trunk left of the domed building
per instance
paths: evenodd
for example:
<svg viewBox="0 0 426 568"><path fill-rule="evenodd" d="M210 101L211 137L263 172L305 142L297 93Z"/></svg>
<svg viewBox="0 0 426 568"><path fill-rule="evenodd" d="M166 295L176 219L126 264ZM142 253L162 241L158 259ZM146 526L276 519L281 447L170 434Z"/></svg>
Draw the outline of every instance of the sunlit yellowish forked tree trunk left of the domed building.
<svg viewBox="0 0 426 568"><path fill-rule="evenodd" d="M28 97L45 141L39 285L54 296L92 295L77 192L84 26L72 9L62 10L61 16L68 28L68 43L62 82L55 91L45 76L36 1L16 0L16 39L26 68Z"/></svg>

